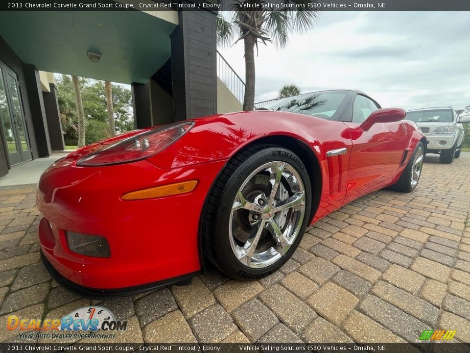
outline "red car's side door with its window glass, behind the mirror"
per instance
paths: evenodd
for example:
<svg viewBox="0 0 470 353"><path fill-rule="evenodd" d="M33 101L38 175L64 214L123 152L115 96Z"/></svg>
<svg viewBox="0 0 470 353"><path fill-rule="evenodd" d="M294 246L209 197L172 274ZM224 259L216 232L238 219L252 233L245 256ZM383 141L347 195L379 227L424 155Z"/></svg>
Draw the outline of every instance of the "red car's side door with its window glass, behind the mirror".
<svg viewBox="0 0 470 353"><path fill-rule="evenodd" d="M345 202L390 182L403 158L406 138L402 122L377 123L368 131L359 127L379 108L375 101L358 94L352 104L352 121L344 122L352 138Z"/></svg>

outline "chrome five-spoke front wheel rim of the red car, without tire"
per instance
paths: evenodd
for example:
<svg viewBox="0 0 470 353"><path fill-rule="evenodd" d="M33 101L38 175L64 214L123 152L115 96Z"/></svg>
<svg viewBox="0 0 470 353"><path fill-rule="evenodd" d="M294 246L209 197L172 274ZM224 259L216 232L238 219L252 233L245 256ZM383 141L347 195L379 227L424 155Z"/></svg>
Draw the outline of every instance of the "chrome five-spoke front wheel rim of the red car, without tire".
<svg viewBox="0 0 470 353"><path fill-rule="evenodd" d="M229 240L238 261L272 265L294 243L305 218L305 186L289 163L272 161L253 171L233 202Z"/></svg>

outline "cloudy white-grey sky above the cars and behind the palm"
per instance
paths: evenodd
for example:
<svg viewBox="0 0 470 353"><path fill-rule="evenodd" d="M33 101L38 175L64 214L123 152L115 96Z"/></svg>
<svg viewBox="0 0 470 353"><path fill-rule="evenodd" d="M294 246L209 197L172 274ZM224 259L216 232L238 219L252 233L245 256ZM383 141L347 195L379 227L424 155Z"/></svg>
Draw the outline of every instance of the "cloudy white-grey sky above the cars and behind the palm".
<svg viewBox="0 0 470 353"><path fill-rule="evenodd" d="M358 89L383 107L461 108L470 105L469 33L465 11L323 11L286 48L258 46L255 101L295 83L303 93ZM219 50L244 77L243 43Z"/></svg>

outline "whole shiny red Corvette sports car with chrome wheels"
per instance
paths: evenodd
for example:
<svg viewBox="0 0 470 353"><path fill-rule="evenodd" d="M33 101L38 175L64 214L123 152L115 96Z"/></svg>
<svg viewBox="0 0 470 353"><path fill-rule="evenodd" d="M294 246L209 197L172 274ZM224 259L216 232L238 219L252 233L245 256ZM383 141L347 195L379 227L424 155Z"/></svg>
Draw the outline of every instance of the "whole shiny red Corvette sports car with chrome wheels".
<svg viewBox="0 0 470 353"><path fill-rule="evenodd" d="M323 216L416 188L426 138L404 116L358 91L322 91L91 144L41 176L43 262L89 296L187 281L204 261L269 275Z"/></svg>

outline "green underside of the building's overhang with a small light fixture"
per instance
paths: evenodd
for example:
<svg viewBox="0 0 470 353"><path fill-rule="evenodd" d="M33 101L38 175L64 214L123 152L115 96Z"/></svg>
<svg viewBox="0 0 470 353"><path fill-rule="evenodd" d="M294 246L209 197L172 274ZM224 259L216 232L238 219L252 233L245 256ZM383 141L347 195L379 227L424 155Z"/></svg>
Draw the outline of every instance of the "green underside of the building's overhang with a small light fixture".
<svg viewBox="0 0 470 353"><path fill-rule="evenodd" d="M38 70L127 84L145 83L168 60L175 27L141 11L11 11L0 21L3 39Z"/></svg>

